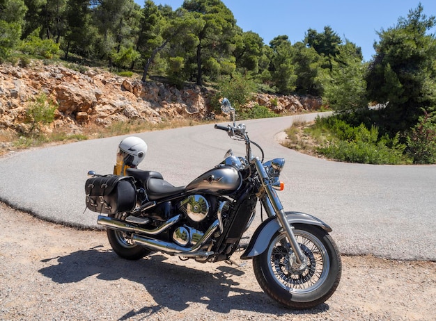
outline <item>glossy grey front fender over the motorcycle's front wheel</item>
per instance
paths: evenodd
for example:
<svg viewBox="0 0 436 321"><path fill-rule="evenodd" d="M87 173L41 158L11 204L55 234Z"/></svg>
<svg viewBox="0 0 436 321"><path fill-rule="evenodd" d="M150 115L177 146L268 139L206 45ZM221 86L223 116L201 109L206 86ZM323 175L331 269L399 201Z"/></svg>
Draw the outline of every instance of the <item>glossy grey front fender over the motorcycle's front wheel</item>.
<svg viewBox="0 0 436 321"><path fill-rule="evenodd" d="M306 213L286 212L286 219L291 225L295 223L316 225L317 227L321 227L327 233L332 231L332 228L325 224L325 222L322 222L322 220ZM270 244L272 236L274 236L274 234L280 229L281 226L277 221L277 217L269 217L267 220L263 221L251 237L250 244L244 254L242 254L241 258L248 260L249 258L262 254Z"/></svg>

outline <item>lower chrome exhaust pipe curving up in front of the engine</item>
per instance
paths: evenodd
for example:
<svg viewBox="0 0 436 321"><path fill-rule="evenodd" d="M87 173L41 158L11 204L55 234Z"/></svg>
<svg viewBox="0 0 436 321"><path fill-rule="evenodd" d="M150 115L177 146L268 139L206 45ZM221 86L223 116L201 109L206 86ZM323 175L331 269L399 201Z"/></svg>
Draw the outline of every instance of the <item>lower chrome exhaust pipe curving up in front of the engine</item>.
<svg viewBox="0 0 436 321"><path fill-rule="evenodd" d="M190 248L181 247L180 245L176 245L172 242L166 242L163 240L156 240L155 238L148 238L147 236L141 236L138 234L132 235L132 242L137 245L141 245L143 247L147 247L148 249L153 249L155 251L160 251L168 254L174 254L178 256L209 256L212 255L213 252L197 252L205 242L209 240L215 231L217 231L219 227L219 221L216 220L212 225L210 225L208 231L206 231L203 237L196 242L196 245Z"/></svg>

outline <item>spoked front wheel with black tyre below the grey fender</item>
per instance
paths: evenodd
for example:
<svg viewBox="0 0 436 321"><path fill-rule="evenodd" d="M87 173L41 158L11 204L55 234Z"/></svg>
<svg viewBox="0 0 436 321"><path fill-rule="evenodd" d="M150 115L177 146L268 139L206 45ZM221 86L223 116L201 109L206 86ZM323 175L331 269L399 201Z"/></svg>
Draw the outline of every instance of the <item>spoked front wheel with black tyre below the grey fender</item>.
<svg viewBox="0 0 436 321"><path fill-rule="evenodd" d="M332 296L341 279L341 256L328 233L306 224L294 225L306 264L299 265L285 233L274 234L262 254L253 258L260 287L288 308L313 308Z"/></svg>

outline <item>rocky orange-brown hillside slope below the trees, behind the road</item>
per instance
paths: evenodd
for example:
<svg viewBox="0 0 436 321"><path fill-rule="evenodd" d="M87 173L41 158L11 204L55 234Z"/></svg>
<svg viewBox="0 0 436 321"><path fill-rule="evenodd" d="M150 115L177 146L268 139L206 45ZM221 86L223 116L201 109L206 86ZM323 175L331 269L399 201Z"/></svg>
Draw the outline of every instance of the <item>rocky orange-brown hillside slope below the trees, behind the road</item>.
<svg viewBox="0 0 436 321"><path fill-rule="evenodd" d="M128 120L162 122L188 115L213 117L212 92L205 88L189 85L178 90L164 83L116 76L103 69L81 73L35 60L28 67L0 65L0 131L17 131L26 126L26 108L41 92L57 104L55 120L47 131L77 131L87 124L108 126ZM258 94L247 108L254 104L291 115L318 109L320 100Z"/></svg>

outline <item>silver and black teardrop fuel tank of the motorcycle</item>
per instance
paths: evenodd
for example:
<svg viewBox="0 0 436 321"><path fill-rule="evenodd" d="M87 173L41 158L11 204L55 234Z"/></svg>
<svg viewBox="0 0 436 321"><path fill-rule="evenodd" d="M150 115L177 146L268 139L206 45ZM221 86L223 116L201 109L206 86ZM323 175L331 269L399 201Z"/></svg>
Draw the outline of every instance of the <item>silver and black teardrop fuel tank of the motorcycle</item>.
<svg viewBox="0 0 436 321"><path fill-rule="evenodd" d="M186 187L187 192L234 192L242 183L242 176L231 166L219 166L198 176Z"/></svg>

